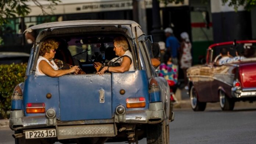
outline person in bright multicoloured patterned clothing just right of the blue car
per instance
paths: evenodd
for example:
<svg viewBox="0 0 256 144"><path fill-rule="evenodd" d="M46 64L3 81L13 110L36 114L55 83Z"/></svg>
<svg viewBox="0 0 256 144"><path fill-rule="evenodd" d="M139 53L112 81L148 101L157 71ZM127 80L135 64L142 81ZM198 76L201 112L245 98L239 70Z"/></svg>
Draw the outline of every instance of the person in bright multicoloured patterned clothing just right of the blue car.
<svg viewBox="0 0 256 144"><path fill-rule="evenodd" d="M159 76L167 80L170 89L175 93L178 82L178 66L171 62L171 55L164 54L164 62L159 66Z"/></svg>

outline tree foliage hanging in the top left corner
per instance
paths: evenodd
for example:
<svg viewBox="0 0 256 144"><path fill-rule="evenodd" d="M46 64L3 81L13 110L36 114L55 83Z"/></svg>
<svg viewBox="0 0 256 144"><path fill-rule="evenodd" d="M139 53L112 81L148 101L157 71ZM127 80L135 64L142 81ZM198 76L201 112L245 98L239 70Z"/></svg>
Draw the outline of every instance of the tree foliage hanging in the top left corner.
<svg viewBox="0 0 256 144"><path fill-rule="evenodd" d="M46 9L53 10L60 0L45 0L49 5L42 5L38 0L0 0L0 25L7 22L8 18L25 17L29 14L30 8L26 2L32 1L38 6L43 14Z"/></svg>

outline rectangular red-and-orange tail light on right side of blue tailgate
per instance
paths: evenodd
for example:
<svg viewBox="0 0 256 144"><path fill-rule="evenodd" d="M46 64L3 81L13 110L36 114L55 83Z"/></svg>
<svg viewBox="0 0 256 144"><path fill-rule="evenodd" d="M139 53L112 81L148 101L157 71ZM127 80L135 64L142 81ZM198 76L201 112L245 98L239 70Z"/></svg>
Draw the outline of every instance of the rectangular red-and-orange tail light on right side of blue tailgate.
<svg viewBox="0 0 256 144"><path fill-rule="evenodd" d="M127 108L144 108L146 107L145 97L127 98L126 99Z"/></svg>

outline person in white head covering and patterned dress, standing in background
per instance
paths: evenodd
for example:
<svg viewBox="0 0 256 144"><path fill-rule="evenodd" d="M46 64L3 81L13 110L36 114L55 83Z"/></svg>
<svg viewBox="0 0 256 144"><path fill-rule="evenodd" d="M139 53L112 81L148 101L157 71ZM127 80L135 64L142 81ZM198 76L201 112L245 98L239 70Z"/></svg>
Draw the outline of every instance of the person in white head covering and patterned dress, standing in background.
<svg viewBox="0 0 256 144"><path fill-rule="evenodd" d="M181 47L180 47L180 67L184 73L184 84L185 89L188 90L188 78L186 76L186 70L192 65L192 56L191 48L192 44L190 43L189 36L187 32L181 33Z"/></svg>

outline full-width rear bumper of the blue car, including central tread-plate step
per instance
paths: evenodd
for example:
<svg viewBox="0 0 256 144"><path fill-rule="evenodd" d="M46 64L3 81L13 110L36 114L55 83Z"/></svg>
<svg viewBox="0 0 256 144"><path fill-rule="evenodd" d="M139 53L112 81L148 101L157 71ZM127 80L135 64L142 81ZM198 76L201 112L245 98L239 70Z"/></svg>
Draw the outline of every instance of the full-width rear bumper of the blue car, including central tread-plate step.
<svg viewBox="0 0 256 144"><path fill-rule="evenodd" d="M78 120L69 122L57 122L56 117L24 116L22 110L11 111L9 126L12 130L46 129L56 127L57 138L80 137L113 137L117 135L116 123L160 123L168 120L163 109L162 102L149 104L145 111L127 111L122 115L115 114L110 120Z"/></svg>

